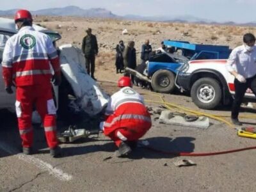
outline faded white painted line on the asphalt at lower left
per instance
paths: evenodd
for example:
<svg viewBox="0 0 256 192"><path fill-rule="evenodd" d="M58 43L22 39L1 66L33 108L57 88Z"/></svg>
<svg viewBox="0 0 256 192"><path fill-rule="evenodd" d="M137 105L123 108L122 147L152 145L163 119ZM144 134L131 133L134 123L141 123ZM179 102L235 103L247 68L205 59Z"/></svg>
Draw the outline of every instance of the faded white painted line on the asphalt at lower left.
<svg viewBox="0 0 256 192"><path fill-rule="evenodd" d="M40 170L42 171L49 172L50 175L52 175L53 177L56 177L57 179L60 179L62 181L68 181L68 180L72 180L73 178L72 175L69 175L68 173L64 173L62 170L58 168L54 168L51 164L45 163L41 159L38 159L33 156L26 156L24 154L19 154L17 150L13 149L9 145L1 141L0 141L0 148L5 152L7 152L8 154L13 154L13 156L18 157L20 160L26 163L34 164L36 167L40 168Z"/></svg>

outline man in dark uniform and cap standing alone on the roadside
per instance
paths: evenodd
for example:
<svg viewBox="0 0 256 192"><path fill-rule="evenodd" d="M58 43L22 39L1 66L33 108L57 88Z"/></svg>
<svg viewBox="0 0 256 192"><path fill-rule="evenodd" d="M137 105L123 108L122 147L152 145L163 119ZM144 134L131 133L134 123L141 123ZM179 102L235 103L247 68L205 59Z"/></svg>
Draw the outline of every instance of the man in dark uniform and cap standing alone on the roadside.
<svg viewBox="0 0 256 192"><path fill-rule="evenodd" d="M87 35L83 38L82 51L86 60L86 69L89 75L97 81L94 77L95 71L95 56L97 56L99 49L97 44L97 38L92 35L92 29L88 28L86 30Z"/></svg>

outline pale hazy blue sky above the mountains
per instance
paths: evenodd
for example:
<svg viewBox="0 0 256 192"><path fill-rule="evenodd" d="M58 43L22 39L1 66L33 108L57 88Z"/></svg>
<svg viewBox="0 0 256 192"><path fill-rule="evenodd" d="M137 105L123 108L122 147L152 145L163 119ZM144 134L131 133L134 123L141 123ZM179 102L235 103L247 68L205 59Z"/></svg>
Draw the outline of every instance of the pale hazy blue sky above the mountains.
<svg viewBox="0 0 256 192"><path fill-rule="evenodd" d="M0 10L79 6L106 8L116 15L191 15L217 22L255 22L256 0L2 0Z"/></svg>

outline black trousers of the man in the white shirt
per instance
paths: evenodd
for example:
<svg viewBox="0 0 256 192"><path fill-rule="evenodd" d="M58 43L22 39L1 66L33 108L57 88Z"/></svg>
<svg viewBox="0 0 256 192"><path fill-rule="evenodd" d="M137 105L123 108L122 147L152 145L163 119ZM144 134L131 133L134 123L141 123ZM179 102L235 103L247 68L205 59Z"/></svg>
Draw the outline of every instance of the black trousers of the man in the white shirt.
<svg viewBox="0 0 256 192"><path fill-rule="evenodd" d="M235 79L234 85L236 93L232 104L231 118L238 117L244 94L248 88L250 88L254 95L256 95L256 76L246 79L246 83L240 83L237 79Z"/></svg>

